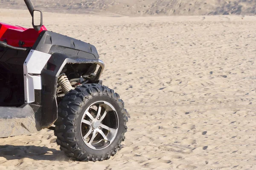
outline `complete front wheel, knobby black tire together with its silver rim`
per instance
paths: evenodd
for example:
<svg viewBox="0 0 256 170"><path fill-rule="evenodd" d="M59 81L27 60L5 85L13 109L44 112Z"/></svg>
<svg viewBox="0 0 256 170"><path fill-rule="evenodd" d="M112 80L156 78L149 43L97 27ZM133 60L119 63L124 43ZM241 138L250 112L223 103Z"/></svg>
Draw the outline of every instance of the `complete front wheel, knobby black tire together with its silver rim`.
<svg viewBox="0 0 256 170"><path fill-rule="evenodd" d="M109 159L125 139L126 114L124 102L108 87L78 86L64 96L58 107L57 144L78 161Z"/></svg>

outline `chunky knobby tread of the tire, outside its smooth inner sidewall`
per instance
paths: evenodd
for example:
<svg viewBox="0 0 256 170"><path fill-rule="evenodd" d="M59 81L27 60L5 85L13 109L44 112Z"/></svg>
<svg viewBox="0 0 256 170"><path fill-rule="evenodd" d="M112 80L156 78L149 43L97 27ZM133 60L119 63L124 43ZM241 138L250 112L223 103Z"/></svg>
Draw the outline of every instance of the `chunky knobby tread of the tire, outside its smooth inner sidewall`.
<svg viewBox="0 0 256 170"><path fill-rule="evenodd" d="M88 154L79 147L79 141L76 139L76 127L78 126L76 125L76 119L79 116L79 110L77 108L82 108L82 105L94 96L102 95L109 96L118 103L124 118L125 130L122 132L121 139L113 150L103 156L97 156ZM127 114L128 112L124 109L124 102L120 99L119 94L116 94L112 89L99 84L80 85L64 96L59 104L58 119L55 122L54 132L55 136L57 136L56 142L67 156L77 161L95 162L110 159L121 148L121 142L125 140L125 132L127 131L126 122L128 122Z"/></svg>

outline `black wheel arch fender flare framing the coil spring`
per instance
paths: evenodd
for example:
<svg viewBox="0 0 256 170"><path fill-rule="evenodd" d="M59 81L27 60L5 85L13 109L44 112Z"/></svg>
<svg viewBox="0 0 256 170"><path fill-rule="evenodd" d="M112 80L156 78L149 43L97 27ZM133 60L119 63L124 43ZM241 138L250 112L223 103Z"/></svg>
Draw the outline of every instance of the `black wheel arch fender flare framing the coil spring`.
<svg viewBox="0 0 256 170"><path fill-rule="evenodd" d="M42 91L41 91L41 127L50 127L58 117L57 105L57 81L64 66L68 63L92 63L100 65L100 68L93 81L98 81L104 69L104 63L92 57L79 57L72 54L53 53L47 65L41 71Z"/></svg>

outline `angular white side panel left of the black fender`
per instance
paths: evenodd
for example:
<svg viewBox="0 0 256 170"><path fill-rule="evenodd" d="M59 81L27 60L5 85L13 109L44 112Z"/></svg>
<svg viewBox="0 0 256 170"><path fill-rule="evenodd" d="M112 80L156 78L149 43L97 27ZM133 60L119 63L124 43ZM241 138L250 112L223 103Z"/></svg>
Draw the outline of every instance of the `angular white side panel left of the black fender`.
<svg viewBox="0 0 256 170"><path fill-rule="evenodd" d="M31 50L23 64L25 103L35 102L35 89L42 89L41 71L51 54Z"/></svg>

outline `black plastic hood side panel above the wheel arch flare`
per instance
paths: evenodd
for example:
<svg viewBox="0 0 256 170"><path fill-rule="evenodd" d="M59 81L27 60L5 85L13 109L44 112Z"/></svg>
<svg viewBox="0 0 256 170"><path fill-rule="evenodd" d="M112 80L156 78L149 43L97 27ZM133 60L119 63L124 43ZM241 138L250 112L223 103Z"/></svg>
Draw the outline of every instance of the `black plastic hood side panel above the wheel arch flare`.
<svg viewBox="0 0 256 170"><path fill-rule="evenodd" d="M95 46L51 31L42 31L32 50L48 54L64 53L89 59L99 59Z"/></svg>

